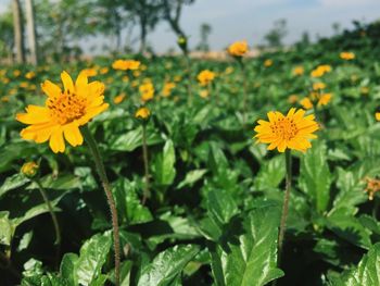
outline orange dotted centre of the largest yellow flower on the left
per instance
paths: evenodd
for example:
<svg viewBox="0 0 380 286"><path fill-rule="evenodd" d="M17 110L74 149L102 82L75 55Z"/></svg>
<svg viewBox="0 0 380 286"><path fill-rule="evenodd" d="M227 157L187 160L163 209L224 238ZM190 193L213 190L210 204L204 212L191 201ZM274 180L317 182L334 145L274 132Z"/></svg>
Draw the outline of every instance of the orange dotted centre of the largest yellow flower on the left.
<svg viewBox="0 0 380 286"><path fill-rule="evenodd" d="M80 119L85 114L86 99L67 90L59 97L49 98L47 105L51 111L51 116L63 125Z"/></svg>

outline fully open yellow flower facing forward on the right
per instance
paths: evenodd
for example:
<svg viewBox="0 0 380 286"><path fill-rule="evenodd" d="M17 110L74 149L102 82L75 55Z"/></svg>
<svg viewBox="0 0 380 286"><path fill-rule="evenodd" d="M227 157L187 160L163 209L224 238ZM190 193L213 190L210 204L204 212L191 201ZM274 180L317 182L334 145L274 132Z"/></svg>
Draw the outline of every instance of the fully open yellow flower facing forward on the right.
<svg viewBox="0 0 380 286"><path fill-rule="evenodd" d="M257 142L269 144L268 150L277 148L283 152L287 148L305 152L312 147L308 139L317 138L313 133L319 129L314 114L304 117L305 111L290 109L287 116L282 113L268 112L269 122L259 120L254 128Z"/></svg>

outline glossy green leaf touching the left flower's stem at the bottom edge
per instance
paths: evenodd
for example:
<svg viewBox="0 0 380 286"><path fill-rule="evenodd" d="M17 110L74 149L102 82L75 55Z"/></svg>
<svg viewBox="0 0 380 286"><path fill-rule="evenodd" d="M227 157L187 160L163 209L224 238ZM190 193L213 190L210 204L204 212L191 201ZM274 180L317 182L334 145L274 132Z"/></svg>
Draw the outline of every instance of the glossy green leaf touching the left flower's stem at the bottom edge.
<svg viewBox="0 0 380 286"><path fill-rule="evenodd" d="M110 235L97 234L83 245L80 256L75 264L75 273L79 284L91 285L101 275L111 244Z"/></svg>

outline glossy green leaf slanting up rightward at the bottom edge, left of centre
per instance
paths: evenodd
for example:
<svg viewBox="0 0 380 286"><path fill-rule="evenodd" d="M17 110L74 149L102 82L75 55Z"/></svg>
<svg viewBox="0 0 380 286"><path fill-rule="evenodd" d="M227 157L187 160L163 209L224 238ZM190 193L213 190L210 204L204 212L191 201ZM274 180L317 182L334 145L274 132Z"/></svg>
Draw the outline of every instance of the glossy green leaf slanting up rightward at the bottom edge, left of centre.
<svg viewBox="0 0 380 286"><path fill-rule="evenodd" d="M138 286L165 286L172 285L177 275L200 251L198 246L177 245L156 256L152 263L148 264L141 273Z"/></svg>

